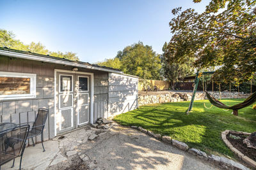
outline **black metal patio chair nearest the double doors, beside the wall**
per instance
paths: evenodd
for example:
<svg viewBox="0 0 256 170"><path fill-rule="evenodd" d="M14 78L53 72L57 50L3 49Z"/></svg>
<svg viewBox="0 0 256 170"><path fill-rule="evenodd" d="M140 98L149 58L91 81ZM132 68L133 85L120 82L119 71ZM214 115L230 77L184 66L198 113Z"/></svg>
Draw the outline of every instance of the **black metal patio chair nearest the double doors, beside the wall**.
<svg viewBox="0 0 256 170"><path fill-rule="evenodd" d="M28 122L28 124L33 123L31 130L28 132L28 139L32 139L33 146L35 146L33 138L36 136L41 135L41 143L44 149L44 126L45 126L45 121L47 119L49 110L40 108L38 109L38 113L36 115L36 120L35 122ZM44 151L45 152L45 149Z"/></svg>

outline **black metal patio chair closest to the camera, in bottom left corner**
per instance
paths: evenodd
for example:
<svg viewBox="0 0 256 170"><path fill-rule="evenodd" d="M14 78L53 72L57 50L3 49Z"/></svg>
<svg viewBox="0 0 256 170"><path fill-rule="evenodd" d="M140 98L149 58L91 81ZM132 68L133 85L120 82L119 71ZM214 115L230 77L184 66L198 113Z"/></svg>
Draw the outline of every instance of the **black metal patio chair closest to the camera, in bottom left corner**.
<svg viewBox="0 0 256 170"><path fill-rule="evenodd" d="M26 147L26 139L28 137L29 125L21 125L13 128L0 136L0 169L3 164L20 157L20 167L22 156Z"/></svg>

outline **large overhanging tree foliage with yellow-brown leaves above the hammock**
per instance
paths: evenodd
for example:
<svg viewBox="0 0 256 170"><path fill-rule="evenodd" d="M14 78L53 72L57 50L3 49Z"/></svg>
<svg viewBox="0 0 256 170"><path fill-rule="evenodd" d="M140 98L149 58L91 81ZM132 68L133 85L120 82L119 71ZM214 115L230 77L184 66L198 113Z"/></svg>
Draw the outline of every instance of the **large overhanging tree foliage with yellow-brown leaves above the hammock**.
<svg viewBox="0 0 256 170"><path fill-rule="evenodd" d="M255 0L212 0L203 13L173 9L170 62L183 64L189 57L198 69L220 66L216 80L252 79L256 72L255 6Z"/></svg>

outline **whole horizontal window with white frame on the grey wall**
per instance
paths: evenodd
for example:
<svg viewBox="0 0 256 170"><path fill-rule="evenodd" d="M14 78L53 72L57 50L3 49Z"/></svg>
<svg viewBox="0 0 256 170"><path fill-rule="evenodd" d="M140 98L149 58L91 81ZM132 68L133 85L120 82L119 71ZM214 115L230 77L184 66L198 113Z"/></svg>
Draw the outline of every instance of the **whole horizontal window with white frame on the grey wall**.
<svg viewBox="0 0 256 170"><path fill-rule="evenodd" d="M36 97L36 74L0 71L0 100Z"/></svg>

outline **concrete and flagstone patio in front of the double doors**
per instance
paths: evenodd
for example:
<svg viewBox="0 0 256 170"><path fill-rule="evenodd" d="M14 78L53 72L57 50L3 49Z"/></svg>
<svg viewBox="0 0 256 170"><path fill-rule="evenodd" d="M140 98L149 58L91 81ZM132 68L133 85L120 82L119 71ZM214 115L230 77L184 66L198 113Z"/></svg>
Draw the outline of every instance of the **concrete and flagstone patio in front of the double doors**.
<svg viewBox="0 0 256 170"><path fill-rule="evenodd" d="M118 124L84 127L25 149L22 169L218 169L172 145ZM12 161L2 166L11 169ZM15 167L19 167L19 158Z"/></svg>

